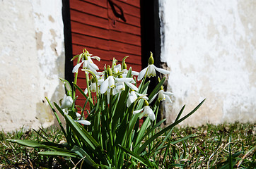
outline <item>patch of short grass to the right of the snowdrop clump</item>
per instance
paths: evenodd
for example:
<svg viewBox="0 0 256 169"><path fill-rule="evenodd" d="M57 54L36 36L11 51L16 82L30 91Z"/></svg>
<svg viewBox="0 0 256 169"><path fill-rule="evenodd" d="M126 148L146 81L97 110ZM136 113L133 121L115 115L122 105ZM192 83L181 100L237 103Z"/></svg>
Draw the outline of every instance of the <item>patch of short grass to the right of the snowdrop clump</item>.
<svg viewBox="0 0 256 169"><path fill-rule="evenodd" d="M184 168L256 168L256 125L223 124L175 128L173 138L197 136L173 145L173 163Z"/></svg>

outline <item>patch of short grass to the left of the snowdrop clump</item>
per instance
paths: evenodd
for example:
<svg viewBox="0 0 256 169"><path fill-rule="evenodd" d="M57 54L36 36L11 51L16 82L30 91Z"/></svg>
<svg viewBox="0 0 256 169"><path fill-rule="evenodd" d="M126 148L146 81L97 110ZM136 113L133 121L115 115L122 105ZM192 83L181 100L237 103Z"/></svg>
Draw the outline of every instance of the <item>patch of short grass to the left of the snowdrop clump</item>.
<svg viewBox="0 0 256 169"><path fill-rule="evenodd" d="M37 153L40 149L32 149L7 142L6 139L30 139L37 141L62 142L64 137L56 127L50 127L46 130L29 130L23 132L23 129L16 132L0 132L0 168L53 168L57 163L53 158L40 156ZM53 166L53 167L52 167Z"/></svg>

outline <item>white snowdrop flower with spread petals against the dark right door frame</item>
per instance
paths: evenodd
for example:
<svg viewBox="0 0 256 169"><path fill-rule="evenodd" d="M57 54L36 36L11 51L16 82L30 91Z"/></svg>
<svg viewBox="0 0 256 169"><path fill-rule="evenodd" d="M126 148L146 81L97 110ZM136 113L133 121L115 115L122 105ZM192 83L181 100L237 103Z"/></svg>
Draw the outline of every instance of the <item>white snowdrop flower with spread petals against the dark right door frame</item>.
<svg viewBox="0 0 256 169"><path fill-rule="evenodd" d="M149 65L141 70L141 72L138 75L138 80L141 80L145 75L147 77L153 77L156 76L156 71L163 74L169 74L170 72L168 70L157 68L156 65L153 65L153 54L151 52L151 56L149 57Z"/></svg>

